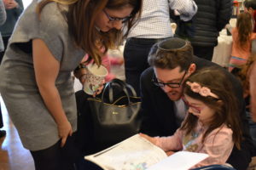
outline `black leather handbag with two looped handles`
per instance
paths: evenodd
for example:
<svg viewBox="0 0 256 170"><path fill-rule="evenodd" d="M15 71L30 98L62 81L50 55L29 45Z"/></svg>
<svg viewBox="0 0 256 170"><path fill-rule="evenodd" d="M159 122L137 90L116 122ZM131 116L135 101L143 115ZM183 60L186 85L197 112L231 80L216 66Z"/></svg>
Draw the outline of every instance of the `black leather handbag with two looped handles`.
<svg viewBox="0 0 256 170"><path fill-rule="evenodd" d="M113 79L103 89L102 99L89 98L88 101L96 143L117 144L138 133L141 99L131 85Z"/></svg>

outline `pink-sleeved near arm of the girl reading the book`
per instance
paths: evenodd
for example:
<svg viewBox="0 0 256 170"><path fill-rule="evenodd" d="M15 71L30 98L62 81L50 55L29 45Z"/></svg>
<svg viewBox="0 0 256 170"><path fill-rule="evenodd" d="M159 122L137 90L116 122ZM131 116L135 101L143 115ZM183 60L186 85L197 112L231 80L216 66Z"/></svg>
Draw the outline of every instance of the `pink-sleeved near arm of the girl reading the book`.
<svg viewBox="0 0 256 170"><path fill-rule="evenodd" d="M222 127L209 133L205 139L200 153L209 155L207 159L196 164L195 167L202 167L212 164L224 164L233 149L234 142L232 140L232 130L228 127Z"/></svg>

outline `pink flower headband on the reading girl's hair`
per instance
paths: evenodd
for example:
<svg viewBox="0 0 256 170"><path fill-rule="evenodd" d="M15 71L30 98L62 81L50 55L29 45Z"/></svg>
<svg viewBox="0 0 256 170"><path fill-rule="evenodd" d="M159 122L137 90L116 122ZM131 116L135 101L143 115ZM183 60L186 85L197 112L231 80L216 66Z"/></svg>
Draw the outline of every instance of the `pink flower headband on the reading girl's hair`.
<svg viewBox="0 0 256 170"><path fill-rule="evenodd" d="M211 89L207 87L201 87L197 82L186 82L191 90L195 93L200 94L201 96L207 97L212 96L212 98L218 99L218 95L212 94Z"/></svg>

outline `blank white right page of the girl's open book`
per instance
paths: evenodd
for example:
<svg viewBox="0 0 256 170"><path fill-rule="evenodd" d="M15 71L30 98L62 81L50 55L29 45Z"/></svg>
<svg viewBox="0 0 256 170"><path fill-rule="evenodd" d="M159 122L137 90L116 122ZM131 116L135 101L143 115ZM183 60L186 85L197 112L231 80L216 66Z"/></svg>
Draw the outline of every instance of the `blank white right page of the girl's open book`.
<svg viewBox="0 0 256 170"><path fill-rule="evenodd" d="M187 170L207 157L207 154L178 151L172 156L168 156L159 163L149 167L147 170Z"/></svg>

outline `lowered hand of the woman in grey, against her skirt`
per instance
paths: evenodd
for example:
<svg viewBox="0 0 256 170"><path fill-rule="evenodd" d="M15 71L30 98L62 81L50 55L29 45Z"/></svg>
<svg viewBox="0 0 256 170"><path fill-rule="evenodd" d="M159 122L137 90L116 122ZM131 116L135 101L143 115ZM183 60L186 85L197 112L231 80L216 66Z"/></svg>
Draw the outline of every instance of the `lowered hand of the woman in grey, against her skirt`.
<svg viewBox="0 0 256 170"><path fill-rule="evenodd" d="M71 136L73 133L70 122L61 122L61 124L58 125L58 131L61 137L61 147L63 147L66 144L67 137Z"/></svg>

